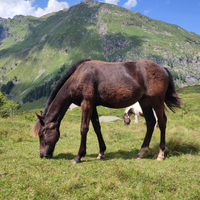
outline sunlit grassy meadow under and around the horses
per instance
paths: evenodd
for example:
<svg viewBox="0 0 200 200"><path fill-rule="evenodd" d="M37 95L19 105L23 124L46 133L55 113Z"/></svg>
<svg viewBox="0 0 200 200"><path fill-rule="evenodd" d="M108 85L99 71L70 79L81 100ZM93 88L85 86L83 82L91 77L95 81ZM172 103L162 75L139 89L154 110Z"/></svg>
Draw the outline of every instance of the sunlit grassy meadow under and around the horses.
<svg viewBox="0 0 200 200"><path fill-rule="evenodd" d="M0 119L0 199L200 199L200 94L182 94L183 107L167 112L165 160L156 160L160 132L150 152L136 160L145 136L144 119L124 127L102 122L106 159L96 160L98 142L90 125L87 155L71 164L80 144L81 112L68 111L54 157L40 159L32 136L34 111ZM39 110L37 110L39 112ZM122 118L124 109L98 107L99 116Z"/></svg>

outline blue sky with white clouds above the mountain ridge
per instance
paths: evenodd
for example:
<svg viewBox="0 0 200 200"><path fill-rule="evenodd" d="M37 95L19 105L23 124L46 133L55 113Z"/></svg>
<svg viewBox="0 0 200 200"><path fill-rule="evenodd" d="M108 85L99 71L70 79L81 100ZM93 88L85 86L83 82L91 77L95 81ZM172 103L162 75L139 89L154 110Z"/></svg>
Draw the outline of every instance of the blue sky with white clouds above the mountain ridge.
<svg viewBox="0 0 200 200"><path fill-rule="evenodd" d="M84 0L83 0L84 1ZM200 0L97 0L139 12L152 19L176 24L200 35ZM0 17L41 17L69 8L80 0L0 0Z"/></svg>

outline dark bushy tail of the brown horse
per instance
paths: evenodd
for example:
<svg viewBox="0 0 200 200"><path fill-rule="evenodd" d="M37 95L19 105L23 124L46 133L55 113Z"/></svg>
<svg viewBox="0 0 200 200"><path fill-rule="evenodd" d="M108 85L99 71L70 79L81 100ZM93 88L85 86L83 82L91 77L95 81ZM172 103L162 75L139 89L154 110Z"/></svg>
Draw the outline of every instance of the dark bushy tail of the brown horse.
<svg viewBox="0 0 200 200"><path fill-rule="evenodd" d="M176 108L181 108L181 99L178 97L176 92L171 73L166 68L165 70L167 71L169 77L169 86L165 95L165 103L171 111L175 112Z"/></svg>

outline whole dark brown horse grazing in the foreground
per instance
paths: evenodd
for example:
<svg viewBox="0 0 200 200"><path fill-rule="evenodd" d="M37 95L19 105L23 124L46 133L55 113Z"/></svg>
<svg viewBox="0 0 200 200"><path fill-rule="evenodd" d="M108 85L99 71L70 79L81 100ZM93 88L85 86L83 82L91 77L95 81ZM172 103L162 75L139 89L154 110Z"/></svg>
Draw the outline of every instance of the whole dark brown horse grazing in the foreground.
<svg viewBox="0 0 200 200"><path fill-rule="evenodd" d="M71 103L81 106L81 144L73 163L78 163L86 155L86 138L89 122L97 134L103 159L104 143L96 106L125 108L139 101L146 120L147 132L138 154L143 158L156 123L152 108L158 117L161 131L158 160L164 159L165 129L167 117L164 103L174 111L180 108L170 72L150 60L136 62L108 63L97 60L81 60L73 65L58 81L47 101L44 113L36 114L38 121L34 134L39 135L40 157L52 158L60 137L60 122Z"/></svg>

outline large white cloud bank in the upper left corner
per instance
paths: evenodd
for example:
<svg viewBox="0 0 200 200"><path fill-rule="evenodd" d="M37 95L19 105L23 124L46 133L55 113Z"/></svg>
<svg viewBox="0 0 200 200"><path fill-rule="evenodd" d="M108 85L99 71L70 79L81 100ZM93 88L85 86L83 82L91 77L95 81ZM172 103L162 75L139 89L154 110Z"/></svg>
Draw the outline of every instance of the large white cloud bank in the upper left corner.
<svg viewBox="0 0 200 200"><path fill-rule="evenodd" d="M40 17L47 13L57 12L69 8L67 2L49 0L46 8L33 6L34 0L0 0L0 17L13 18L15 15L32 15Z"/></svg>

